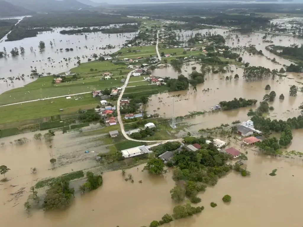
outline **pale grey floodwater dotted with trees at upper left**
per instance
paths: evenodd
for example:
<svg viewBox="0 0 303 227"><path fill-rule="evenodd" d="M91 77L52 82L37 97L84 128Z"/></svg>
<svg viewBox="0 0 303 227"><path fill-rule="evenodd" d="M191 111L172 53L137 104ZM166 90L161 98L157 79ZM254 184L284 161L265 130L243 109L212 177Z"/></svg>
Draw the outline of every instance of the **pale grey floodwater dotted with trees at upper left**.
<svg viewBox="0 0 303 227"><path fill-rule="evenodd" d="M110 26L104 26L101 28L108 28ZM19 51L19 56L17 57L7 57L0 59L0 74L1 78L8 77L17 77L22 74L25 74L25 80L14 80L13 84L5 83L3 80L0 80L0 93L3 93L7 90L24 86L32 82L34 79L30 79L27 75L31 74L31 67L37 68L38 73L62 73L70 70L76 66L78 60L75 57L80 57L81 62L87 62L87 59L92 54L105 54L105 53L114 53L122 47L122 44L126 40L133 37L133 33L123 33L121 36L119 34L103 34L102 32L96 33L86 33L87 39L85 39L85 34L82 35L62 35L59 33L61 30L68 30L72 28L55 28L54 31L45 31L38 34L37 37L25 38L18 41L10 42L1 42L0 50L3 50L3 47L6 48L7 53L10 55L10 51L15 47L24 47L25 54L21 56ZM39 52L39 42L45 42L45 50ZM53 47L50 45L50 41L53 43ZM112 49L102 50L99 48L105 47L106 45L111 44L115 46ZM87 48L86 48L86 47ZM33 51L30 50L30 47L33 47ZM63 51L60 52L60 48L63 48ZM73 51L65 51L65 48L73 48ZM58 50L58 51L57 51ZM85 56L85 58L82 58ZM48 60L48 58L51 58ZM70 61L66 62L64 58L71 58ZM62 61L62 63L59 63ZM68 63L68 65L66 65ZM12 70L12 72L10 72Z"/></svg>

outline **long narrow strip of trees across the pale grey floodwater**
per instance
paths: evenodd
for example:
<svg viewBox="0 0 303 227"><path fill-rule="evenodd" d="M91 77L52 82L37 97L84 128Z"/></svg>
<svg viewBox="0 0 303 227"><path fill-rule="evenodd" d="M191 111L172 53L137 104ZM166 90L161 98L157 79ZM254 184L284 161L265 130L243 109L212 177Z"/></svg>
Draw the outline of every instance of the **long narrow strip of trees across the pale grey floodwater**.
<svg viewBox="0 0 303 227"><path fill-rule="evenodd" d="M119 28L80 28L80 29L71 29L71 30L62 30L60 34L79 34L79 33L92 33L92 32L102 32L106 34L114 34L114 33L125 33L125 32L136 32L139 29L139 25L132 24L123 24Z"/></svg>

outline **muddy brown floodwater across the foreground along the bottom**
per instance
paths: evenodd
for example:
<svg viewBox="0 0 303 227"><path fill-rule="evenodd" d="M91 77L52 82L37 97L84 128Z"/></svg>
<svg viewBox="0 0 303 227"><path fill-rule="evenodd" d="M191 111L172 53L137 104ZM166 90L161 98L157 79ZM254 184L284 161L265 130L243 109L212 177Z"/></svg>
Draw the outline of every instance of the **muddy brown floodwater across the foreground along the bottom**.
<svg viewBox="0 0 303 227"><path fill-rule="evenodd" d="M294 131L293 136L291 146L299 148L300 134ZM233 139L231 142L234 142ZM234 144L234 147L239 146ZM298 203L303 199L302 161L255 155L254 151L250 149L247 151L246 164L251 172L250 177L242 177L235 172L228 173L218 181L217 185L208 187L204 193L199 193L198 196L202 201L197 206L205 207L201 214L165 226L221 227L242 226L243 223L247 227L302 226L303 204ZM164 176L150 176L146 171L141 171L144 165L140 165L138 170L134 167L126 171L126 174L132 173L134 183L126 182L121 170L106 172L103 174L103 185L99 189L84 195L77 193L68 209L52 212L33 210L27 214L23 203L27 199L29 187L35 183L35 176L28 173L30 165L27 163L33 164L32 160L44 162L43 160L46 159L45 169L51 168L47 163L48 157L40 157L43 156L41 155L43 151L40 150L36 152L31 149L18 150L19 156L9 155L9 152L16 152L15 149L4 152L5 164L9 162L12 170L6 174L11 180L0 185L0 211L5 216L2 220L3 226L97 227L100 226L100 222L104 226L148 226L151 221L160 220L164 214L171 214L176 205L172 202L169 193L169 190L175 186L171 179L171 171ZM20 170L18 173L14 170L18 168L14 163L28 167L20 175ZM62 167L45 171L48 171L48 176L56 176L62 173L61 169ZM273 169L277 169L275 177L268 175ZM37 174L40 174L40 171L38 169ZM19 176L16 177L16 174ZM142 183L138 183L139 180L142 180ZM22 187L25 187L26 192L20 196L10 195ZM43 190L38 192L43 193ZM230 204L222 202L221 198L225 194L231 195ZM218 206L211 208L211 202L217 203Z"/></svg>

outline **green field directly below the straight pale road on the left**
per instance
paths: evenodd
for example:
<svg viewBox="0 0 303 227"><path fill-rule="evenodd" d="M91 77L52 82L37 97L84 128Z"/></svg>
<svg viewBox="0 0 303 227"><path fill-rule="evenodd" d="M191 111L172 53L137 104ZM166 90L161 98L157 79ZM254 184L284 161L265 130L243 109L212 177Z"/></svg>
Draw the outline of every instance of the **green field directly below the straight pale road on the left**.
<svg viewBox="0 0 303 227"><path fill-rule="evenodd" d="M76 97L83 97L83 99L75 100L75 98L57 98L2 106L0 107L0 124L22 122L25 120L58 114L75 113L78 109L92 109L99 104L99 100L92 98L92 94L85 94ZM63 109L63 112L60 112L59 109Z"/></svg>

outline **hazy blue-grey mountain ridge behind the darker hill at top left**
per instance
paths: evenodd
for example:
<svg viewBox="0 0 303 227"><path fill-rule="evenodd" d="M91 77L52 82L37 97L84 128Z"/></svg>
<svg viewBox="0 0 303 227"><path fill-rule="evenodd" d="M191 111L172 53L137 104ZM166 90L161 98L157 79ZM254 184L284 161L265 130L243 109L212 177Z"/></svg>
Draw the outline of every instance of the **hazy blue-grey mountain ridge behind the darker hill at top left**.
<svg viewBox="0 0 303 227"><path fill-rule="evenodd" d="M76 0L9 0L13 5L21 6L25 9L36 12L48 12L48 11L64 11L80 8L87 8L89 5L85 5Z"/></svg>

